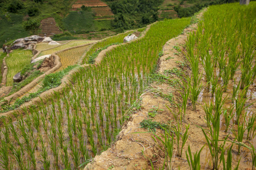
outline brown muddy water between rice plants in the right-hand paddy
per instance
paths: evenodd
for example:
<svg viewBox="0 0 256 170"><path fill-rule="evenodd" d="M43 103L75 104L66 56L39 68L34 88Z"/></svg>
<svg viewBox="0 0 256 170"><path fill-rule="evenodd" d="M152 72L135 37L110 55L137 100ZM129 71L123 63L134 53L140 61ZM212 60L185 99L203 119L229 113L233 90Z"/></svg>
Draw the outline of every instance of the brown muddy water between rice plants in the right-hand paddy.
<svg viewBox="0 0 256 170"><path fill-rule="evenodd" d="M216 77L216 75L219 74L219 69L218 68L215 68L214 70L214 75ZM233 86L234 84L237 85L237 82L239 82L239 80L241 79L241 72L237 71L236 74L234 75L234 79L236 81L236 84L234 81L229 81L229 84L228 84L228 88L227 88L227 92L226 93L223 93L222 95L222 98L226 98L226 101L225 101L225 104L223 106L223 108L227 108L228 111L229 111L229 108L230 107L234 107L235 106L235 101L234 101L234 104L231 104L231 98L232 98L232 90L233 90ZM206 80L205 80L205 77L202 77L202 84L205 88L202 89L201 93L199 94L199 103L202 104L202 105L205 105L205 104L210 104L210 102L215 102L215 96L211 96L211 93L210 93L210 90L206 88ZM223 85L223 81L221 78L219 78L218 80L218 84L219 85ZM245 106L249 105L249 104L252 104L253 102L256 101L256 80L254 80L254 83L249 87L249 90L247 92L247 101L246 101L246 104ZM210 87L211 89L211 87ZM241 90L240 90L240 93L241 93ZM239 94L240 94L239 93ZM240 98L240 95L238 95L238 98ZM249 116L252 116L254 115L256 112L256 105L255 104L252 104L251 106L249 106L246 110L244 110L242 112L242 115L240 116L240 121L242 120L242 117L244 114L246 114L246 121L249 120ZM235 122L235 108L232 112L232 114L234 114L234 117L232 118L231 122L230 122L230 126L229 126L229 130L228 132L230 132L230 136L231 138L229 138L228 140L229 141L233 141L235 139L235 136L233 134L232 131L230 131L230 129L232 128L235 133L237 133L237 125L234 124ZM256 125L256 122L255 122L255 125ZM246 127L246 124L244 124L244 126ZM221 132L224 132L226 128L226 123L225 123L225 119L224 119L224 116L223 114L221 115L220 117L220 131ZM225 133L223 134L225 135ZM247 135L247 130L245 131L244 133L244 139L243 139L243 143L250 146L250 143L253 144L254 147L256 147L256 137L254 137L254 139L252 139L251 141L248 141L246 140L246 135ZM226 147L227 146L231 146L231 142L227 142L226 144ZM233 147L233 150L236 150L238 149L237 145L234 145ZM240 161L240 164L239 164L239 167L251 167L251 164L252 164L252 158L251 158L251 153L250 153L250 150L247 149L246 147L241 147L241 155L238 155L237 152L232 152L232 162L234 164L237 164L239 159L241 158L241 161ZM205 162L205 164L202 166L201 165L201 168L203 169L209 169L209 162L211 161L211 156L210 156L210 153L209 153L209 150L206 150L204 149L202 152L201 152L201 158L204 159L203 162Z"/></svg>

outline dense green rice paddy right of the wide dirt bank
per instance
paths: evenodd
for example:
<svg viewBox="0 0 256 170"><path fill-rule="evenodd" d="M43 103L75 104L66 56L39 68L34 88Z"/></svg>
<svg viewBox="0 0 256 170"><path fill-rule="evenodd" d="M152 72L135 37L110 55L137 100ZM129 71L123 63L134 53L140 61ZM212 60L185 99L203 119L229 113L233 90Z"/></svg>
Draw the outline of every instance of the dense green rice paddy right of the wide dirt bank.
<svg viewBox="0 0 256 170"><path fill-rule="evenodd" d="M185 92L190 93L193 109L196 108L202 90L211 93L211 100L203 106L207 129L202 128L202 131L213 169L220 169L221 164L223 169L238 169L239 161L235 167L232 166L232 147L238 150L238 155L242 147L249 148L252 153L252 169L256 167L252 142L256 131L255 112L254 109L248 109L255 102L255 96L251 96L248 91L255 84L255 23L255 2L250 2L248 6L240 6L238 3L211 6L205 12L204 20L198 23L197 31L188 35L186 58L192 72ZM199 72L201 64L203 72ZM206 82L205 89L201 83L202 77ZM250 92L255 93L255 90ZM186 102L183 96L183 102ZM249 97L251 100L248 100ZM221 139L222 119L225 120L226 135ZM230 136L234 140L230 140ZM232 146L228 147L227 142L233 143ZM198 154L201 151L194 153L193 158L188 148L186 156L191 161L191 169L200 169Z"/></svg>

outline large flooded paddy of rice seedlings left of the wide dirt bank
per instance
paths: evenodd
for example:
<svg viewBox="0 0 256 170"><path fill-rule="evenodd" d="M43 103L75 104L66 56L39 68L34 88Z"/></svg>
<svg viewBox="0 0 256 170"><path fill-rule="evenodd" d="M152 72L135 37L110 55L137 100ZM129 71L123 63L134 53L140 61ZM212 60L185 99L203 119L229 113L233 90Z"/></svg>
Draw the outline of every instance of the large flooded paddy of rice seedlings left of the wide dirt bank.
<svg viewBox="0 0 256 170"><path fill-rule="evenodd" d="M143 78L156 63L158 51L189 22L190 18L183 18L155 23L143 39L110 51L98 66L80 69L71 85L46 99L48 105L42 102L37 108L24 109L25 117L16 115L17 120L5 123L0 149L9 154L0 161L15 163L1 166L78 169L106 150L125 120L128 103L137 98L146 82Z"/></svg>

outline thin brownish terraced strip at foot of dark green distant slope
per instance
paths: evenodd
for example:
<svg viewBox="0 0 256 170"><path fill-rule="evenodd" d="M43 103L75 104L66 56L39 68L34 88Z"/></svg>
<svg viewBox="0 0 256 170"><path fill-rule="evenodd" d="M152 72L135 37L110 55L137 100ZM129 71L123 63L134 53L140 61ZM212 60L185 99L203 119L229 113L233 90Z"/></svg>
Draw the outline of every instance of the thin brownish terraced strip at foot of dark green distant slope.
<svg viewBox="0 0 256 170"><path fill-rule="evenodd" d="M87 34L76 34L75 37L79 39L103 39L108 36L113 36L115 32L113 31L100 31L100 32L91 32Z"/></svg>

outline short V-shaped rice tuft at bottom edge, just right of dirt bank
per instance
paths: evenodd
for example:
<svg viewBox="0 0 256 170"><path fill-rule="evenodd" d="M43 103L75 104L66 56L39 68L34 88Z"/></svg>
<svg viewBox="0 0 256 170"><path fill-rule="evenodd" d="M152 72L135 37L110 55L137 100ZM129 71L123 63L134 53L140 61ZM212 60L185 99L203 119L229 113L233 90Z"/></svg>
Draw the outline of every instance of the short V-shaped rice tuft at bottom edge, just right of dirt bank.
<svg viewBox="0 0 256 170"><path fill-rule="evenodd" d="M186 151L186 158L188 161L189 169L190 170L200 170L201 165L200 165L200 153L204 147L202 147L199 152L196 151L196 153L191 153L190 145L188 145L188 153ZM189 159L190 158L190 159Z"/></svg>

